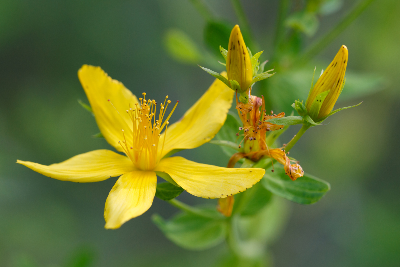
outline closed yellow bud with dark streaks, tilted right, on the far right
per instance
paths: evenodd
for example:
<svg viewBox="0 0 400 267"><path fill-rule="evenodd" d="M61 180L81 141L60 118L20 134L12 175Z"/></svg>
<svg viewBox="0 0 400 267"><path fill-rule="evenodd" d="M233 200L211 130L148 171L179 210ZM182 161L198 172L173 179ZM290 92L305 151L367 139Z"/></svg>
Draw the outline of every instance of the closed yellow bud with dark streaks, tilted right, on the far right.
<svg viewBox="0 0 400 267"><path fill-rule="evenodd" d="M306 108L308 115L314 121L325 117L332 111L342 92L347 61L348 50L346 45L342 45L333 61L310 90Z"/></svg>

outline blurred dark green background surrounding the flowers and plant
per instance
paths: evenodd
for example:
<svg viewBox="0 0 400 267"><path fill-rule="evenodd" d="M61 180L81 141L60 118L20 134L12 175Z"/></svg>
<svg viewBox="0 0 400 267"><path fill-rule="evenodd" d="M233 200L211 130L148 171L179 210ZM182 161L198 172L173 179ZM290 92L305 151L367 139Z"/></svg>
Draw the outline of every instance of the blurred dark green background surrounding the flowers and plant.
<svg viewBox="0 0 400 267"><path fill-rule="evenodd" d="M228 0L206 2L220 18L238 22ZM324 16L315 36L305 38L302 45L332 28L355 2L345 1L338 12ZM264 50L261 59L268 59L278 1L242 4ZM179 100L170 121L179 119L214 78L196 64L171 59L164 49L164 33L180 29L206 51L205 23L187 0L0 2L1 266L213 265L223 244L202 252L185 251L150 221L153 213L172 216L176 209L168 203L155 199L143 216L120 229L106 230L104 203L116 178L62 182L15 163L20 159L52 164L90 150L111 149L104 139L91 137L98 128L77 102L87 103L77 77L85 63L101 66L136 95L146 91L152 99L169 95ZM290 155L303 169L330 182L332 189L314 205L288 202L288 224L281 239L270 246L275 266L398 266L399 43L400 2L375 0L313 59L304 72L306 93L280 96L280 88L273 86L279 72L269 78L270 101L278 113L291 110L278 98L306 98L314 66L319 74L342 44L349 49L349 74L382 77L376 93L339 98L336 107L364 103L330 117L328 125L313 127L292 149ZM199 63L218 70L211 59ZM286 87L290 90L290 83ZM254 93L259 91L256 85ZM281 142L288 142L298 127L291 127ZM212 144L179 154L220 166L228 161ZM188 204L206 201L186 192L178 199Z"/></svg>

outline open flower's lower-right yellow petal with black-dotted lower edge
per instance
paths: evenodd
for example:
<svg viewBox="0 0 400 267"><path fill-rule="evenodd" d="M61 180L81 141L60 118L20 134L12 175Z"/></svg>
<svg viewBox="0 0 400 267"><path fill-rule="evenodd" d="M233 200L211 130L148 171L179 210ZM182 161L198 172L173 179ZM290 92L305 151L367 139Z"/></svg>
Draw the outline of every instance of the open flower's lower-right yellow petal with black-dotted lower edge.
<svg viewBox="0 0 400 267"><path fill-rule="evenodd" d="M238 194L260 181L265 173L260 168L222 168L182 157L164 158L154 170L168 173L187 192L202 198Z"/></svg>

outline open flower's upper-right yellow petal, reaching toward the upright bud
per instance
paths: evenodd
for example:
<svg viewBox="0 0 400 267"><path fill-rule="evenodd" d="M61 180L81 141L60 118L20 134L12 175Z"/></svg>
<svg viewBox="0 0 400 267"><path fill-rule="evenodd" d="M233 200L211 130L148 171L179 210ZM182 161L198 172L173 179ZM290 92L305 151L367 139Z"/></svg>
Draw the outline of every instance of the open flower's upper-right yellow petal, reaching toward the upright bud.
<svg viewBox="0 0 400 267"><path fill-rule="evenodd" d="M226 75L226 73L221 73ZM158 151L161 157L175 148L196 148L210 141L218 133L226 120L233 99L234 91L222 81L214 83L202 97L183 115L182 119L168 126L164 149L163 133L160 136Z"/></svg>

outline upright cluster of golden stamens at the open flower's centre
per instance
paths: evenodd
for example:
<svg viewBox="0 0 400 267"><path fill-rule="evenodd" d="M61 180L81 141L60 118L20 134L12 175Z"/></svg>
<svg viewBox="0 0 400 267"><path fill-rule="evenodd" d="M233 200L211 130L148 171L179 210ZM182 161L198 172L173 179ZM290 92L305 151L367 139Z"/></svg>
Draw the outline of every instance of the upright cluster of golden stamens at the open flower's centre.
<svg viewBox="0 0 400 267"><path fill-rule="evenodd" d="M160 158L158 158L158 149L164 149L164 142L166 137L166 131L168 128L168 119L170 119L172 113L178 102L176 102L174 108L164 119L166 109L171 103L168 99L168 95L165 97L164 104L160 104L160 111L158 117L156 116L157 102L155 100L146 100L146 93L142 93L143 98L140 97L139 103L135 104L135 107L129 107L126 112L132 120L132 140L126 140L124 129L122 129L122 136L124 140L118 143L124 149L126 155L132 160L136 168L141 170L153 170ZM164 121L164 122L163 122ZM161 131L164 129L164 136L160 140Z"/></svg>

